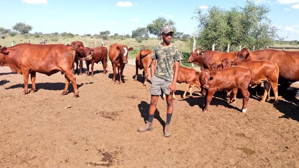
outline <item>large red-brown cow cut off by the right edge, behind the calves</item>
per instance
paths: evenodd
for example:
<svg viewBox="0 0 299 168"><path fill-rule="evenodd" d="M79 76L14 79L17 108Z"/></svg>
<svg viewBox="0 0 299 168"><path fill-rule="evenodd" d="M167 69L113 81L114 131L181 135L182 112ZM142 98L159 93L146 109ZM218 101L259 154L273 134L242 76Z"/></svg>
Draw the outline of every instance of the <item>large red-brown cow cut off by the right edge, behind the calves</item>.
<svg viewBox="0 0 299 168"><path fill-rule="evenodd" d="M299 52L298 51L280 51L280 50L258 50L249 51L243 48L237 54L237 62L255 61L255 60L274 61L279 67L279 83L283 81L285 88L288 88L293 82L299 81ZM287 82L287 84L286 84Z"/></svg>

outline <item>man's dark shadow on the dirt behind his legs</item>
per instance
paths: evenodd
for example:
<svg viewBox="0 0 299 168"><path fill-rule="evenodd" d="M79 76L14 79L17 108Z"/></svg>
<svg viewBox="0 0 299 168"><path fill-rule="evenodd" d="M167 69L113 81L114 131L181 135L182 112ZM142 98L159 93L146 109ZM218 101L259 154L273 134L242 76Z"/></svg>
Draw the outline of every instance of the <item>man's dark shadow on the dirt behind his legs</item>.
<svg viewBox="0 0 299 168"><path fill-rule="evenodd" d="M148 120L149 118L149 105L147 102L145 101L141 101L140 104L138 104L138 109L139 109L139 112L141 114L141 117L143 118L144 120L144 123L146 123L146 121ZM155 111L155 115L154 115L154 118L157 119L160 124L162 125L163 127L163 130L164 130L164 127L165 127L165 121L160 117L160 112L156 109Z"/></svg>

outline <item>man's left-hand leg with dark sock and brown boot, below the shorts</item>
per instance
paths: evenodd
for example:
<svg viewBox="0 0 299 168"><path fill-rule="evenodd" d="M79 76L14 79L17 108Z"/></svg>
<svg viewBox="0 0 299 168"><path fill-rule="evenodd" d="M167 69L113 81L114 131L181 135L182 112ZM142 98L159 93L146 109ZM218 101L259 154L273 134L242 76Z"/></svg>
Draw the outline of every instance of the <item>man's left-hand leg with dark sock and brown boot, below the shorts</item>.
<svg viewBox="0 0 299 168"><path fill-rule="evenodd" d="M159 98L159 95L152 95L151 100L150 100L150 106L149 106L149 118L147 120L147 123L144 126L141 126L138 128L139 132L145 132L145 131L154 129L152 127L152 121L154 119L158 98Z"/></svg>

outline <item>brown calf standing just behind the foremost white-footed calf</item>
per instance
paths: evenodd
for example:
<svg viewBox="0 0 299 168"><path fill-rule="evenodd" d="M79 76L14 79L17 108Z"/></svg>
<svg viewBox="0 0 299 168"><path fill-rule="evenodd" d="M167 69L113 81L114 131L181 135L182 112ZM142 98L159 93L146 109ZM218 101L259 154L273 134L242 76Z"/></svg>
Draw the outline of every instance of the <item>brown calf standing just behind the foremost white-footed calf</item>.
<svg viewBox="0 0 299 168"><path fill-rule="evenodd" d="M252 70L251 86L256 86L258 84L264 83L264 95L261 102L265 102L266 97L270 99L270 88L274 92L274 104L278 102L278 75L279 67L274 61L258 60L258 61L248 61L248 62L234 62L231 59L223 59L221 66L223 68L242 66L248 67ZM237 90L233 92L234 98L236 100ZM267 96L268 95L268 96Z"/></svg>

